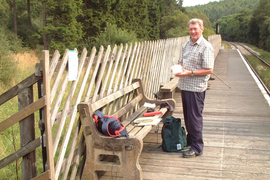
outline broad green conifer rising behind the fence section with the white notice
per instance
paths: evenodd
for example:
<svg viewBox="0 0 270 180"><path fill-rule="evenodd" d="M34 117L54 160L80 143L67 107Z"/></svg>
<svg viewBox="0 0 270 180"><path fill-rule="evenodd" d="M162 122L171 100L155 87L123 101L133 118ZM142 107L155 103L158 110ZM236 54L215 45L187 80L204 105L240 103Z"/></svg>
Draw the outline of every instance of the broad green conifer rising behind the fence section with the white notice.
<svg viewBox="0 0 270 180"><path fill-rule="evenodd" d="M82 0L45 0L46 14L53 16L55 22L46 18L50 26L43 27L43 32L48 32L49 49L58 49L64 52L65 48L73 49L78 46L79 40L83 37L82 24L77 17L82 15ZM53 24L53 26L52 26Z"/></svg>

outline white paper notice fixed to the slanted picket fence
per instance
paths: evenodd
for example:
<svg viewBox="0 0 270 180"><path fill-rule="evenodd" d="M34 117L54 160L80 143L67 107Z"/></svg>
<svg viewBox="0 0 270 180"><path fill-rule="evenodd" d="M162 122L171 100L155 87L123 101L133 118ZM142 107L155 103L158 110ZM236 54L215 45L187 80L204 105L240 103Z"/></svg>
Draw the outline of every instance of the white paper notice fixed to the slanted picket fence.
<svg viewBox="0 0 270 180"><path fill-rule="evenodd" d="M68 51L68 75L67 80L74 81L78 74L78 56L76 51Z"/></svg>

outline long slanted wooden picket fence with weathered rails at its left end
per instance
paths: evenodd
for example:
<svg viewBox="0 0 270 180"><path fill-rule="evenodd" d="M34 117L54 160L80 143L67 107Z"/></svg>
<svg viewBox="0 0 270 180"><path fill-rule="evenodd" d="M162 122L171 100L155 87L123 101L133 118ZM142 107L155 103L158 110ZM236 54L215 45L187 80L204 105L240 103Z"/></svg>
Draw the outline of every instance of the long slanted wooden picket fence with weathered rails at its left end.
<svg viewBox="0 0 270 180"><path fill-rule="evenodd" d="M216 46L216 56L220 49L220 35L209 38ZM189 36L185 36L143 41L134 45L121 44L119 47L115 45L112 51L108 46L105 52L101 46L98 53L93 47L89 57L86 57L87 49L84 48L80 53L73 49L79 57L78 75L74 81L68 81L67 78L68 49L63 55L56 50L50 60L49 52L43 51L35 74L0 95L0 106L16 95L18 104L21 104L19 112L0 122L0 133L18 122L20 129L27 129L20 131L21 141L24 139L21 149L1 159L0 169L23 157L22 179L80 179L85 161L81 158L85 157L85 140L77 105L81 101L98 101L130 85L134 78L142 78L146 94L154 98L153 93L159 95L160 86L168 83L173 76L170 67L177 63L182 55L182 45L188 40ZM38 84L39 99L34 102L30 98L25 102L23 99L26 97L33 97L35 83ZM119 109L122 101L128 101L128 98L122 97L119 102L108 106ZM41 137L35 139L33 126L36 121L33 113L38 110ZM106 112L108 115L110 113ZM35 149L40 146L44 173L37 176L37 167L29 164L36 164Z"/></svg>

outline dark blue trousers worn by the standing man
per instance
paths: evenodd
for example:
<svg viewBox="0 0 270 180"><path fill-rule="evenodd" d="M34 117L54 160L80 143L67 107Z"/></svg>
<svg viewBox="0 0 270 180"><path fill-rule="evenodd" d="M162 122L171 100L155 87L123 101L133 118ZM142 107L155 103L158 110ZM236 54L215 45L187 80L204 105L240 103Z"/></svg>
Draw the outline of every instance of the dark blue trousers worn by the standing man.
<svg viewBox="0 0 270 180"><path fill-rule="evenodd" d="M202 111L205 91L192 92L181 90L184 122L187 130L187 144L197 155L202 154Z"/></svg>

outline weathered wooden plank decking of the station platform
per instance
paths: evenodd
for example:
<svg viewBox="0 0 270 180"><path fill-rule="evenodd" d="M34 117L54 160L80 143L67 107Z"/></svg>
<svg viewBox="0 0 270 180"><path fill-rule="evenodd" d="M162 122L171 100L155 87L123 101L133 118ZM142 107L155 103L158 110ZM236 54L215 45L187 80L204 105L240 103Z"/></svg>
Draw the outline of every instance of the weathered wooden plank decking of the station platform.
<svg viewBox="0 0 270 180"><path fill-rule="evenodd" d="M149 133L144 140L140 165L143 179L270 179L270 106L236 49L220 50L206 91L203 111L202 156L183 158L158 147L161 134ZM269 98L269 96L268 96ZM173 116L182 119L181 95L174 94ZM162 124L159 128L161 132ZM115 173L113 173L115 176ZM121 174L117 178L122 179ZM112 179L111 172L100 179Z"/></svg>

